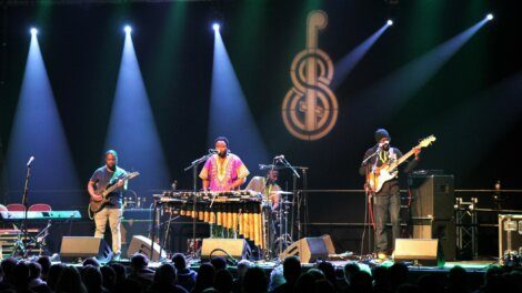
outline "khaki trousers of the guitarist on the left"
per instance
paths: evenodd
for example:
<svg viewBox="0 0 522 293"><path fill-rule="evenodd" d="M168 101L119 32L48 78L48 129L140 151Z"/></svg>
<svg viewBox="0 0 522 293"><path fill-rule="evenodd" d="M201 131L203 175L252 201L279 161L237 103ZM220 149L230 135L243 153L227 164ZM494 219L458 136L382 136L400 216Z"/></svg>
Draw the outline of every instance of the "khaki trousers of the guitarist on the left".
<svg viewBox="0 0 522 293"><path fill-rule="evenodd" d="M104 208L94 214L96 232L94 238L103 238L106 233L107 220L112 233L112 252L121 253L121 209L107 209Z"/></svg>

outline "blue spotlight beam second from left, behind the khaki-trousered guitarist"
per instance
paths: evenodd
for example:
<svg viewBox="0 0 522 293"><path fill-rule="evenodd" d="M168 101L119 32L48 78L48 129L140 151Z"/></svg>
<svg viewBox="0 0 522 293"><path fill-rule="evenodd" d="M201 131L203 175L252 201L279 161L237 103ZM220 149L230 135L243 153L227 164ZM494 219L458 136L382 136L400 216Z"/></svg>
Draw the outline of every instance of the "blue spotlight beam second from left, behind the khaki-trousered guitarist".
<svg viewBox="0 0 522 293"><path fill-rule="evenodd" d="M122 166L139 171L131 183L140 196L169 186L169 170L132 43L126 33L106 148L118 151Z"/></svg>

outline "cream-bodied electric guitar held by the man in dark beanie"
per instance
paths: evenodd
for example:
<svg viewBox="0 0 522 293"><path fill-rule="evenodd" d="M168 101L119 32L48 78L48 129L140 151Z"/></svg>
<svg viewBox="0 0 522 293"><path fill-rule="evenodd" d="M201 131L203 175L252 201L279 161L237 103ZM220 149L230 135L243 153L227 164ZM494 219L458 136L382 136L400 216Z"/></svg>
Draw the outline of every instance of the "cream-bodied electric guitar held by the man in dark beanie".
<svg viewBox="0 0 522 293"><path fill-rule="evenodd" d="M396 168L400 164L404 163L408 158L412 156L415 153L415 149L426 148L431 145L435 140L435 137L430 135L421 140L421 142L419 142L415 148L411 149L408 153L405 153L398 160L392 160L389 163L382 164L381 166L373 168L373 170L367 174L367 184L370 190L373 192L379 192L387 181L390 181L391 179L396 176L399 172Z"/></svg>

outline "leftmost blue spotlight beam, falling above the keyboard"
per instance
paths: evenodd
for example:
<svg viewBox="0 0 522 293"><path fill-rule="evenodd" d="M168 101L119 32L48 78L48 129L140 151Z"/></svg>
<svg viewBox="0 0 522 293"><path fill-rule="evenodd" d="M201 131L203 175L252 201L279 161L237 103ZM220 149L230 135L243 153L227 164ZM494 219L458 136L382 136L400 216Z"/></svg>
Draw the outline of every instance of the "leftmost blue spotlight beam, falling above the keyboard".
<svg viewBox="0 0 522 293"><path fill-rule="evenodd" d="M3 175L7 190L11 191L6 195L6 200L21 201L18 190L26 178L24 166L29 158L34 156L36 161L31 166L30 202L46 202L53 208L64 209L77 199L61 198L59 193L54 195L54 192L52 196L47 194L46 198L46 193L40 192L71 191L78 190L80 185L38 43L38 29L30 28L29 31L31 41L6 155Z"/></svg>

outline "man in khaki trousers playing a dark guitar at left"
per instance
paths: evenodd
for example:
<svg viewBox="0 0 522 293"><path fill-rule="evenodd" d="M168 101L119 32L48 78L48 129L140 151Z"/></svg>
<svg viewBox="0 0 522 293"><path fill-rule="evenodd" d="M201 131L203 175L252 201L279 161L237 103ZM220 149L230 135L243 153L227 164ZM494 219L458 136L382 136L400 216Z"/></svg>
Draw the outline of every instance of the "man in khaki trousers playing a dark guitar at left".
<svg viewBox="0 0 522 293"><path fill-rule="evenodd" d="M118 166L118 153L114 150L106 152L106 165L97 169L92 174L87 189L92 200L102 200L100 191L110 184L117 184L118 189L109 194L108 204L94 214L96 238L103 238L106 233L107 221L112 234L113 260L118 261L121 254L121 214L123 190L127 190L127 181L121 180L127 175L127 171Z"/></svg>

